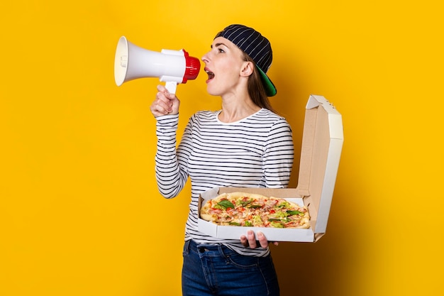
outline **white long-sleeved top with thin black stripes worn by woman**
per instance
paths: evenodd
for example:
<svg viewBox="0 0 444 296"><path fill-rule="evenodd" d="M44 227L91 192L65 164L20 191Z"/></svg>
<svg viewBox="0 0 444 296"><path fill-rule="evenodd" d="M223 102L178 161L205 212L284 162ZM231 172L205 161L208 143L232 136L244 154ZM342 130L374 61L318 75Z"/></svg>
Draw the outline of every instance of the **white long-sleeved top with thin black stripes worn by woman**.
<svg viewBox="0 0 444 296"><path fill-rule="evenodd" d="M177 148L179 115L157 117L157 186L165 198L172 198L191 178L186 240L223 243L244 255L267 256L268 248L245 248L240 240L199 232L197 204L199 194L213 187L287 187L294 155L292 130L284 118L267 109L228 124L218 120L220 112L194 114Z"/></svg>

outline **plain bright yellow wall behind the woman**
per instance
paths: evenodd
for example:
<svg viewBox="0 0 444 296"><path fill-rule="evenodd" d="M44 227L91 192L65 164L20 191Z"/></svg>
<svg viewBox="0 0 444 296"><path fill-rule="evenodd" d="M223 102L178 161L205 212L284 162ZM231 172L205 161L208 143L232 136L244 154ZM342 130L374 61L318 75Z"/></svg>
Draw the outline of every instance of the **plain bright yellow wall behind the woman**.
<svg viewBox="0 0 444 296"><path fill-rule="evenodd" d="M0 295L180 295L189 187L172 200L157 192L149 106L159 81L116 87L114 53L126 35L201 57L230 23L272 42L272 104L293 126L296 164L309 94L343 114L326 236L272 246L282 295L437 295L444 48L435 2L6 1ZM177 89L181 133L195 111L220 106L205 79Z"/></svg>

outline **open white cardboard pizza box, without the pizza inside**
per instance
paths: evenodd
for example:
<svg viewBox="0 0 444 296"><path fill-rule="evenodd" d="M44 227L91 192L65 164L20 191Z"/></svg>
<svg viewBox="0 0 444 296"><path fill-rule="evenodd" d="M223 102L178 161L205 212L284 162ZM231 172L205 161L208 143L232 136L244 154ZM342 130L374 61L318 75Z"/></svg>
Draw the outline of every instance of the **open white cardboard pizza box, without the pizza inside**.
<svg viewBox="0 0 444 296"><path fill-rule="evenodd" d="M311 218L309 229L218 226L199 217L199 231L220 239L239 239L252 229L255 233L262 231L268 241L318 241L326 233L343 140L340 113L324 97L311 95L306 104L296 188L220 187L203 192L199 198L199 209L207 199L224 192L252 192L290 199L308 207Z"/></svg>

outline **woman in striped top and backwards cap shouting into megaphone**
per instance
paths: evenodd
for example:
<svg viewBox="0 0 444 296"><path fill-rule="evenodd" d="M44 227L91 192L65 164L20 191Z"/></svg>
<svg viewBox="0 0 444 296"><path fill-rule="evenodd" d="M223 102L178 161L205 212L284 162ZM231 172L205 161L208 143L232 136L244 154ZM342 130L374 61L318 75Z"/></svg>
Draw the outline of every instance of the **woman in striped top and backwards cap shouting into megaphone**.
<svg viewBox="0 0 444 296"><path fill-rule="evenodd" d="M198 197L213 187L283 188L293 165L292 131L274 114L276 94L266 72L272 62L267 38L243 25L216 35L202 57L207 91L222 109L199 111L176 148L179 99L158 86L151 111L157 119L156 177L160 192L175 197L191 178L185 229L183 295L279 295L268 241L249 231L240 240L198 231Z"/></svg>

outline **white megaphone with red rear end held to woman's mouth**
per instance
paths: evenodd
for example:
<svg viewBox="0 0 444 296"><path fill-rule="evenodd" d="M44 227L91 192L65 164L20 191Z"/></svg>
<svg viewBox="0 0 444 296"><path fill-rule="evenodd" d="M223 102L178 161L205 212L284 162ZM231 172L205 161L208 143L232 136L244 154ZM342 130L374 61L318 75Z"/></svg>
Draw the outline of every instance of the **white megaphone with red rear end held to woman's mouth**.
<svg viewBox="0 0 444 296"><path fill-rule="evenodd" d="M160 53L140 48L122 36L117 43L114 80L123 82L143 77L159 77L171 94L179 83L196 79L201 63L185 50L162 50Z"/></svg>

